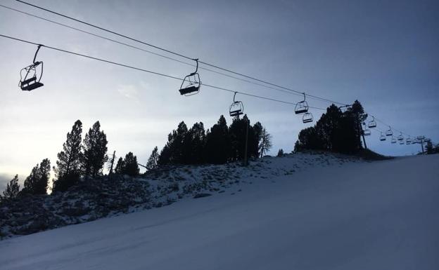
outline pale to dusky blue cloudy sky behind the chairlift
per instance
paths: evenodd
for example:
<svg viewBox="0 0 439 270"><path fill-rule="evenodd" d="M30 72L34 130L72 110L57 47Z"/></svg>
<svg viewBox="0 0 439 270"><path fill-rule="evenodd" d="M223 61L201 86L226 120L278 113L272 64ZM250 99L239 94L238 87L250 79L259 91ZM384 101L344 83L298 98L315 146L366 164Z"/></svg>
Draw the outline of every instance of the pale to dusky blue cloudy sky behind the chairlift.
<svg viewBox="0 0 439 270"><path fill-rule="evenodd" d="M438 1L52 1L30 3L132 36L190 58L311 95L350 103L409 135L439 142ZM1 5L84 29L154 53L175 55L39 11L13 0ZM105 58L183 78L193 67L98 39L0 7L0 34ZM66 134L80 119L84 133L100 121L108 151L132 151L146 163L180 121L209 128L221 114L228 123L233 94L208 87L179 95L179 81L42 48L44 87L18 88L19 72L36 46L0 37L0 190L18 174L20 182L43 158L56 163ZM288 102L284 93L200 70L201 81ZM250 121L273 137L269 154L293 149L303 124L294 107L245 95ZM307 99L312 107L330 105ZM319 119L321 110L310 110ZM381 130L388 129L378 123ZM83 133L83 134L84 134ZM395 133L399 135L399 133ZM378 140L367 146L381 154L416 154L420 147Z"/></svg>

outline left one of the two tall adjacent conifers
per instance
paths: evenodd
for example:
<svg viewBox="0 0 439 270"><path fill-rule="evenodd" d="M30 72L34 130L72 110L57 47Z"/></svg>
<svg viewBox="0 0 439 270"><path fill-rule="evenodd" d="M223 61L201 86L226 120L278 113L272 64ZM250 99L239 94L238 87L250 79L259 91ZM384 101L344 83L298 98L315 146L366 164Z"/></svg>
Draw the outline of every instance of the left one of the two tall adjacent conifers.
<svg viewBox="0 0 439 270"><path fill-rule="evenodd" d="M53 191L65 191L79 181L82 158L81 136L82 123L77 120L72 126L72 131L67 133L63 151L58 153L58 161L56 161L56 167L53 168L57 178L53 182Z"/></svg>

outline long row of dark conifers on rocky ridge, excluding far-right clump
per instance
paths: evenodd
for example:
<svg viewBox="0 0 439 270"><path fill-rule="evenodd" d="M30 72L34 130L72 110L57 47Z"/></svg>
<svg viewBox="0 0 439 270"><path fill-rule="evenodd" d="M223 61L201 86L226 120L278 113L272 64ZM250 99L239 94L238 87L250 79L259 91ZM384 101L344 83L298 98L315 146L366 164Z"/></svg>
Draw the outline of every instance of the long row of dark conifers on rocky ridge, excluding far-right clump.
<svg viewBox="0 0 439 270"><path fill-rule="evenodd" d="M158 151L155 147L148 158L146 168L153 170L160 166L172 164L229 163L243 160L246 152L246 135L248 135L247 156L256 158L263 156L271 147L271 135L260 122L250 125L247 116L235 118L227 126L224 116L210 129L205 130L203 123L195 123L187 128L182 121L177 130L167 137L167 143ZM120 157L115 164L115 156L108 158L107 137L96 121L82 139L82 122L77 120L72 130L67 133L63 150L58 153L56 166L53 166L55 177L51 187L53 192L66 191L79 182L103 175L106 162L112 164L109 174L139 175L139 163L132 152ZM44 158L38 163L20 190L18 175L13 177L3 192L3 198L16 198L25 194L46 194L49 187L51 162ZM1 196L0 196L1 198Z"/></svg>

